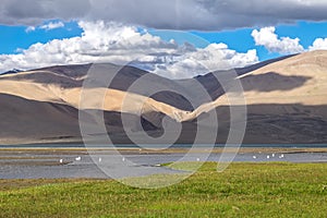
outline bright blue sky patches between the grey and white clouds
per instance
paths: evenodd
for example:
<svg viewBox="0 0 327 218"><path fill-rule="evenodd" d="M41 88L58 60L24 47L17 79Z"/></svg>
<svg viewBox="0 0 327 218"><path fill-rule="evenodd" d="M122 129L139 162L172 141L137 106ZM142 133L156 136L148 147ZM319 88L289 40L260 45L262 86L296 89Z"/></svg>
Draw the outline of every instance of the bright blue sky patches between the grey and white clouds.
<svg viewBox="0 0 327 218"><path fill-rule="evenodd" d="M50 21L45 22L44 24L49 22ZM65 22L64 27L55 29L36 28L35 31L27 32L26 28L27 26L24 25L0 25L0 41L2 41L0 46L0 53L19 53L19 49L27 49L31 45L36 43L45 44L52 39L71 38L74 36L81 36L83 33L83 29L76 22ZM230 49L233 49L238 52L246 52L250 49L256 49L261 61L281 56L280 53L269 52L263 46L255 46L255 41L251 36L251 33L255 28L256 27L220 32L192 31L189 33L199 36L208 43L223 43L228 45ZM194 37L189 38L187 34L181 36L180 34L173 34L173 32L158 32L156 29L150 29L149 33L152 35L159 36L164 40L170 40L171 38L174 38L178 43L190 40L199 48L208 45L201 39L194 41ZM316 38L327 38L327 22L301 21L295 24L280 24L276 26L276 34L279 37L298 37L301 40L300 44L304 48L308 48L308 46L311 46Z"/></svg>

